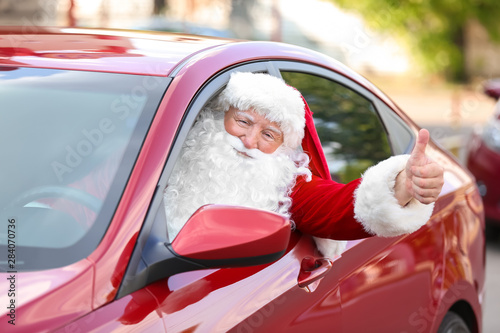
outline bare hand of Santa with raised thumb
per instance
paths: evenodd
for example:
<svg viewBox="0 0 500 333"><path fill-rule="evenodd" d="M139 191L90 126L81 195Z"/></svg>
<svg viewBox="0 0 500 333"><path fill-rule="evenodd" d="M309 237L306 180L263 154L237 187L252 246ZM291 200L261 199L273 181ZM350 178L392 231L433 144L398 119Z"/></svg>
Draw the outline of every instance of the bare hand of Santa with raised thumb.
<svg viewBox="0 0 500 333"><path fill-rule="evenodd" d="M428 142L429 131L421 129L405 170L396 178L394 195L401 206L412 198L423 204L435 202L441 192L443 168L425 155Z"/></svg>

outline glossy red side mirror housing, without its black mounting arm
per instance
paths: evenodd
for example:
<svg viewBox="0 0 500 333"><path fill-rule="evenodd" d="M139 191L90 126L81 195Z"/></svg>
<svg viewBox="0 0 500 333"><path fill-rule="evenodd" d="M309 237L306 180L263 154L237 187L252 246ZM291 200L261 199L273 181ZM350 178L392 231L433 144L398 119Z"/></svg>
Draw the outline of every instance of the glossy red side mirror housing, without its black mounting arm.
<svg viewBox="0 0 500 333"><path fill-rule="evenodd" d="M271 212L221 205L197 210L172 242L176 255L203 266L259 265L280 258L290 223Z"/></svg>

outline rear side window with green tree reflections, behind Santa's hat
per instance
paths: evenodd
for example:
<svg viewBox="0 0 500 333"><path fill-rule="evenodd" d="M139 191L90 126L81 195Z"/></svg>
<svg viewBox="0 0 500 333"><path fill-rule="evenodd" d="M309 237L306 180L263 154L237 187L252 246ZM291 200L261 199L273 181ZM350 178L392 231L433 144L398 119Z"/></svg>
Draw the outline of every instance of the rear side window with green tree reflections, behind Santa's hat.
<svg viewBox="0 0 500 333"><path fill-rule="evenodd" d="M346 183L391 156L384 127L370 100L324 77L282 71L313 112L332 178Z"/></svg>

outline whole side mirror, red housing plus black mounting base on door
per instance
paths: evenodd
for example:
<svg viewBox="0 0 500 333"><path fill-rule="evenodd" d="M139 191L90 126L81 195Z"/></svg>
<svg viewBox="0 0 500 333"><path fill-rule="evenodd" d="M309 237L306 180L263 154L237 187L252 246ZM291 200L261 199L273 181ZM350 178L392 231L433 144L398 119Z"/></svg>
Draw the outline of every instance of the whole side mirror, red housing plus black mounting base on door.
<svg viewBox="0 0 500 333"><path fill-rule="evenodd" d="M290 221L263 210L206 205L167 241L160 209L139 263L127 273L117 297L169 276L207 268L262 265L279 259L290 240ZM161 216L163 215L163 217Z"/></svg>

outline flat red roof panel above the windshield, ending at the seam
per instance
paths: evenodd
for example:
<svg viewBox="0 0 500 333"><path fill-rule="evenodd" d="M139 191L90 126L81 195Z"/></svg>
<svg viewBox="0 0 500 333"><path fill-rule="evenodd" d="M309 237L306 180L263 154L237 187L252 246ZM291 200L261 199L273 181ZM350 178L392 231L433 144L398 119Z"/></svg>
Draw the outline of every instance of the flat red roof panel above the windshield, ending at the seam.
<svg viewBox="0 0 500 333"><path fill-rule="evenodd" d="M153 31L0 27L0 65L166 76L184 59L232 42Z"/></svg>

